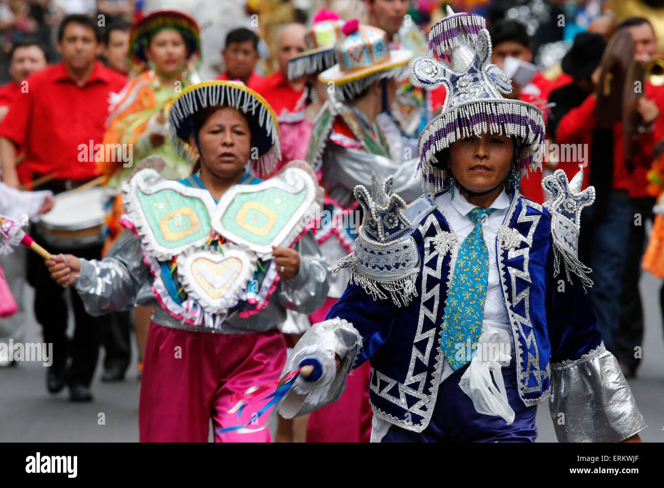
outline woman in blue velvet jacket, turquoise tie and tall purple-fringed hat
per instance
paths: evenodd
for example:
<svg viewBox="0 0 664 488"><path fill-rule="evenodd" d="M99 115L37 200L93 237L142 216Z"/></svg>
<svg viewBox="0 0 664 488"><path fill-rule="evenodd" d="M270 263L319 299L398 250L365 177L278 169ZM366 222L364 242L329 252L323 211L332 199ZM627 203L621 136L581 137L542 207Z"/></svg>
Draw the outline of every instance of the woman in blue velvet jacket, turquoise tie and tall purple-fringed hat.
<svg viewBox="0 0 664 488"><path fill-rule="evenodd" d="M406 205L390 178L355 195L365 210L351 282L326 320L297 343L319 374L297 378L285 417L335 401L345 375L369 362L374 442L533 442L548 398L561 442L638 441L645 423L602 343L578 261L580 191L562 170L544 179L542 206L519 193L540 166L538 108L507 100L474 14L449 11L415 60L414 79L446 85L442 114L420 135L422 183ZM550 368L550 373L547 370Z"/></svg>

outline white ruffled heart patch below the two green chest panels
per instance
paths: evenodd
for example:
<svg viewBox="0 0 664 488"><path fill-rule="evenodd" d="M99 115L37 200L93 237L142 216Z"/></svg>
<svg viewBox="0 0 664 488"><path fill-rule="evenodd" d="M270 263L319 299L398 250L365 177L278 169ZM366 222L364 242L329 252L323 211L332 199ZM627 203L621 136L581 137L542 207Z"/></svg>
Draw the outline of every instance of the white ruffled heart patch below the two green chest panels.
<svg viewBox="0 0 664 488"><path fill-rule="evenodd" d="M226 313L236 305L256 271L256 255L251 250L233 244L224 244L221 250L198 250L177 257L183 288L210 313Z"/></svg>

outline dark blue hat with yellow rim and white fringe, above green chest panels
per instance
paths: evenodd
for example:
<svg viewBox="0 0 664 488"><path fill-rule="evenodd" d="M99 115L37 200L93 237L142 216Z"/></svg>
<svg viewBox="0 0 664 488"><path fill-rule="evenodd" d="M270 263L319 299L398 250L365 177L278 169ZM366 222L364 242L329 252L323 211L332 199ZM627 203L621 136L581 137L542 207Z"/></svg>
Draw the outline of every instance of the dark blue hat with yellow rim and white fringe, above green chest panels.
<svg viewBox="0 0 664 488"><path fill-rule="evenodd" d="M270 104L239 81L210 80L189 86L175 99L169 112L171 145L183 159L193 163L198 157L189 145L194 132L193 115L209 106L232 107L250 121L251 144L257 159L251 160L254 175L270 173L282 157L279 124ZM252 151L253 152L253 151Z"/></svg>

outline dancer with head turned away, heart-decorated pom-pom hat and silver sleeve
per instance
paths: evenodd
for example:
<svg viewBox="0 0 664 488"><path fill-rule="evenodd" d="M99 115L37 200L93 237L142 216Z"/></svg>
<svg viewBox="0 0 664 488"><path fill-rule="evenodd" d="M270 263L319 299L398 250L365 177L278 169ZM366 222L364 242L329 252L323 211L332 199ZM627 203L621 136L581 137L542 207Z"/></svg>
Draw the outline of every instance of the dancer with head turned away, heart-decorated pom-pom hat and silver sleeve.
<svg viewBox="0 0 664 488"><path fill-rule="evenodd" d="M357 20L345 23L342 33L334 48L337 64L319 76L329 100L314 124L306 157L326 190L326 212L315 234L331 267L355 248L360 223L355 185L369 183L376 171L381 178L396 175L406 198L415 199L421 193L414 178L416 149L404 146L388 113L400 80L408 74L412 52L391 50L384 31ZM331 277L325 305L309 316L311 323L325 317L350 276L344 270ZM307 442L368 442L368 390L367 364L349 378L339 402L311 414Z"/></svg>

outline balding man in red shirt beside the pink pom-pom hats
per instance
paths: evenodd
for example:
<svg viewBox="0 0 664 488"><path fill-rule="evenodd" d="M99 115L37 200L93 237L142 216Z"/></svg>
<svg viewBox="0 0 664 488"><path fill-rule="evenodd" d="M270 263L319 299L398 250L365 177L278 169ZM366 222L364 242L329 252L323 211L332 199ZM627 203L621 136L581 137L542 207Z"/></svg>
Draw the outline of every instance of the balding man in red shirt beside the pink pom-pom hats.
<svg viewBox="0 0 664 488"><path fill-rule="evenodd" d="M288 80L288 61L304 52L305 27L301 24L288 24L277 37L276 58L279 70L256 85L260 93L277 114L277 120L288 118L289 114L304 108L303 94L306 76Z"/></svg>

